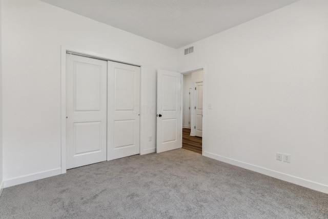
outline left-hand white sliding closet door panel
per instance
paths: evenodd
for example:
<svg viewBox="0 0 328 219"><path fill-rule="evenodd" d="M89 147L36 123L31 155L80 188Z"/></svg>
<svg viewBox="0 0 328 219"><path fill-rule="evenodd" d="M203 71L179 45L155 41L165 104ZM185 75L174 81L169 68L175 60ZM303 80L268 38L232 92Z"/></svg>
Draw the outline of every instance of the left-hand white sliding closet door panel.
<svg viewBox="0 0 328 219"><path fill-rule="evenodd" d="M67 54L67 169L106 161L107 62Z"/></svg>

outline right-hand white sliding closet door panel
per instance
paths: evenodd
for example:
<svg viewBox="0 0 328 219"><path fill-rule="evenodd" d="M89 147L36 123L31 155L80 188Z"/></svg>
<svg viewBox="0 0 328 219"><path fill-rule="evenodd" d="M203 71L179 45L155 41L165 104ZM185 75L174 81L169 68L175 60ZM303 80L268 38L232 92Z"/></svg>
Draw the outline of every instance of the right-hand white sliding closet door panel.
<svg viewBox="0 0 328 219"><path fill-rule="evenodd" d="M108 61L107 160L139 154L140 67Z"/></svg>

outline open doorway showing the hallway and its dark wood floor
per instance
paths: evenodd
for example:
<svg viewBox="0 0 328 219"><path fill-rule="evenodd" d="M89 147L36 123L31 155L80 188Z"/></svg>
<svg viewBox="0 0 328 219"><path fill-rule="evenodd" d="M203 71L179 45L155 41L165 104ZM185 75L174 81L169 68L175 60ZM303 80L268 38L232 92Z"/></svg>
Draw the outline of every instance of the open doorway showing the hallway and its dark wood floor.
<svg viewBox="0 0 328 219"><path fill-rule="evenodd" d="M183 74L182 148L202 154L203 70Z"/></svg>

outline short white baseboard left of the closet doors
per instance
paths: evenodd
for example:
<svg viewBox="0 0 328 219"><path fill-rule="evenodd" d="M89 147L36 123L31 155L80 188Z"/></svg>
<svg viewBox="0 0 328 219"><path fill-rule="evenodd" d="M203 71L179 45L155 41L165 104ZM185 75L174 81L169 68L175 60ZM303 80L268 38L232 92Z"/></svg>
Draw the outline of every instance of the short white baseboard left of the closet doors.
<svg viewBox="0 0 328 219"><path fill-rule="evenodd" d="M4 187L7 188L7 187L11 187L11 186L16 186L19 184L28 183L28 182L35 181L35 180L40 180L42 178L47 178L47 177L59 175L59 174L61 174L61 168L48 170L48 171L44 171L44 172L39 172L39 173L35 173L35 174L30 174L30 175L25 175L25 176L21 176L21 177L17 177L17 178L12 178L10 180L5 181Z"/></svg>

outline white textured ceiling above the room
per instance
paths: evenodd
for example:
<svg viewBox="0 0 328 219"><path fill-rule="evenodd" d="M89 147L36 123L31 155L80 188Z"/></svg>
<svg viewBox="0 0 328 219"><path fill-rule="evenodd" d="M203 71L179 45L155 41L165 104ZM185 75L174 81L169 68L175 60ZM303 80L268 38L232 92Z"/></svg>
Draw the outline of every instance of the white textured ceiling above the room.
<svg viewBox="0 0 328 219"><path fill-rule="evenodd" d="M42 0L180 48L299 0Z"/></svg>

